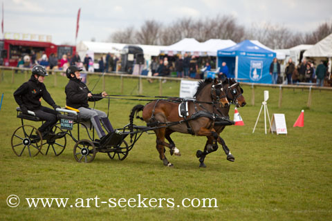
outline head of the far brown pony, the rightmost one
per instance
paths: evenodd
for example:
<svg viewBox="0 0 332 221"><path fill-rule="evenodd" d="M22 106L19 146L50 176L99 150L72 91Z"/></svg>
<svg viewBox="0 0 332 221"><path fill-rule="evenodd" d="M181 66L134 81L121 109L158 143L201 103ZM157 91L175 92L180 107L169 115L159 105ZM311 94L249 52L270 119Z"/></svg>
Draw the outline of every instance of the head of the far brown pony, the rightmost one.
<svg viewBox="0 0 332 221"><path fill-rule="evenodd" d="M235 81L235 79L227 78L223 81L223 84L225 85L227 98L232 104L235 104L238 108L247 104L246 99L242 95L243 89L239 82Z"/></svg>

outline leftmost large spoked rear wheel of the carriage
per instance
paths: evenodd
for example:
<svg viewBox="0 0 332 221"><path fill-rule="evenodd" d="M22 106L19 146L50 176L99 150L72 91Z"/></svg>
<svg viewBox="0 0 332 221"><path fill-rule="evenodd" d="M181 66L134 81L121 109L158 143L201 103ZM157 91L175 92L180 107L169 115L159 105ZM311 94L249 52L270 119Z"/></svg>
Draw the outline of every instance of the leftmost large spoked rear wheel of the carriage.
<svg viewBox="0 0 332 221"><path fill-rule="evenodd" d="M18 156L35 157L43 146L42 134L30 125L23 125L12 134L12 151Z"/></svg>

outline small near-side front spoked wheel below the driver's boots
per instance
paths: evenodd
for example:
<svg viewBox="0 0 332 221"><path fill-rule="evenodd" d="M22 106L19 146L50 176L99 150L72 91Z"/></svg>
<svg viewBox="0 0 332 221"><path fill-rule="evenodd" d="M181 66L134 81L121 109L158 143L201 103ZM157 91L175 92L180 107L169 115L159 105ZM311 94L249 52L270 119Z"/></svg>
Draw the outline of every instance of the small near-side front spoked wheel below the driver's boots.
<svg viewBox="0 0 332 221"><path fill-rule="evenodd" d="M77 162L92 162L95 159L95 153L95 145L91 140L79 140L74 146L74 157Z"/></svg>

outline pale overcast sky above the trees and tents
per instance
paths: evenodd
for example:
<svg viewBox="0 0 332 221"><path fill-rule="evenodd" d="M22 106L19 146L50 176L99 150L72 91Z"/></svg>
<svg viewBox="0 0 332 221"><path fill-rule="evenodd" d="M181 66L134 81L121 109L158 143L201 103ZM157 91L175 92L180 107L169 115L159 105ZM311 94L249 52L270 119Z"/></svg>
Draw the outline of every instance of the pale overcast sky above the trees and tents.
<svg viewBox="0 0 332 221"><path fill-rule="evenodd" d="M106 41L112 32L147 19L164 24L178 18L233 15L239 24L277 23L294 31L315 30L332 21L332 0L4 0L4 32L51 35L55 44Z"/></svg>

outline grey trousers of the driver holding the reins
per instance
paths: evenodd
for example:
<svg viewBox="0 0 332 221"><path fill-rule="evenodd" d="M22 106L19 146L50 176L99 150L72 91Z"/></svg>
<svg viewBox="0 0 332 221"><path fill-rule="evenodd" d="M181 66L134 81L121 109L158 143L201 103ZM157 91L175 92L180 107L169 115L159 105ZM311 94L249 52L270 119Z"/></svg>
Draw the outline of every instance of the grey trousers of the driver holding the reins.
<svg viewBox="0 0 332 221"><path fill-rule="evenodd" d="M102 125L106 129L108 133L113 132L113 127L111 122L109 122L109 118L107 118L106 113L104 111L99 111L97 109L92 108L78 108L80 110L80 117L83 119L90 119L95 131L99 138L104 137L105 132L102 129ZM100 124L102 122L102 124Z"/></svg>

